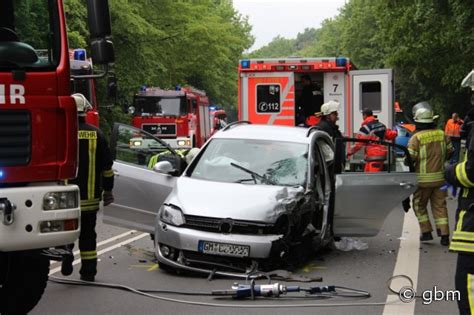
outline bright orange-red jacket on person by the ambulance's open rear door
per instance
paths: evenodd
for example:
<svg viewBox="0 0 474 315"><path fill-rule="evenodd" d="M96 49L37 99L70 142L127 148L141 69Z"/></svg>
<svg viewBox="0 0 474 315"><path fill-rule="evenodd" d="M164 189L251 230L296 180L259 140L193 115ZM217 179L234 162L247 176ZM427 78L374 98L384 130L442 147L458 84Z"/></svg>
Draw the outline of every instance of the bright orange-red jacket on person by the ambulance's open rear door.
<svg viewBox="0 0 474 315"><path fill-rule="evenodd" d="M357 139L367 139L374 141L393 140L397 136L397 132L387 127L378 121L374 116L367 117L356 135ZM387 147L381 144L367 144L364 142L357 142L350 150L349 154L353 155L365 147L364 160L370 161L384 161L387 159Z"/></svg>

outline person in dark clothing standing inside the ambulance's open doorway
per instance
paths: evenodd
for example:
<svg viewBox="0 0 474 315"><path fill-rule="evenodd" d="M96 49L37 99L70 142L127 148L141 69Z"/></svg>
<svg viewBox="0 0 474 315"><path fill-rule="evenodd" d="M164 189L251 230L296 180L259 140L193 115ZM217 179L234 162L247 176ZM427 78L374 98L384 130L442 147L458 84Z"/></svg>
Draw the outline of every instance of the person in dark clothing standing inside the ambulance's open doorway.
<svg viewBox="0 0 474 315"><path fill-rule="evenodd" d="M297 101L299 109L297 125L306 123L308 118L321 110L321 105L323 104L321 87L314 84L309 75L301 76L301 85L301 95Z"/></svg>

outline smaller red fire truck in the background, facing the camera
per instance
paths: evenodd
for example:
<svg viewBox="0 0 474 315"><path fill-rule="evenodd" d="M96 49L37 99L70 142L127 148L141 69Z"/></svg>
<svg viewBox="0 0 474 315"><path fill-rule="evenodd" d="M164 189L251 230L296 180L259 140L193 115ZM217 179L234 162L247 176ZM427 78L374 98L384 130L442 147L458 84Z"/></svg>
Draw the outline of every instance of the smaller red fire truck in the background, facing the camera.
<svg viewBox="0 0 474 315"><path fill-rule="evenodd" d="M209 100L193 87L164 90L143 87L129 108L132 125L167 142L174 149L201 147L211 135ZM134 139L139 149L145 140Z"/></svg>

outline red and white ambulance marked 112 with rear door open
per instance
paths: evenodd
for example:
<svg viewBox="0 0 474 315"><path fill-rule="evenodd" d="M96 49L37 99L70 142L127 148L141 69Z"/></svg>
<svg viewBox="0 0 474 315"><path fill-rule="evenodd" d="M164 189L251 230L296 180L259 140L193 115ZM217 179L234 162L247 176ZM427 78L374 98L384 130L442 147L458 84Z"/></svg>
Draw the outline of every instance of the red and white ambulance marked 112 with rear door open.
<svg viewBox="0 0 474 315"><path fill-rule="evenodd" d="M303 75L321 87L324 102L339 102L343 134L357 132L364 108L372 109L381 122L393 126L392 70L356 70L343 57L241 60L239 120L295 126Z"/></svg>

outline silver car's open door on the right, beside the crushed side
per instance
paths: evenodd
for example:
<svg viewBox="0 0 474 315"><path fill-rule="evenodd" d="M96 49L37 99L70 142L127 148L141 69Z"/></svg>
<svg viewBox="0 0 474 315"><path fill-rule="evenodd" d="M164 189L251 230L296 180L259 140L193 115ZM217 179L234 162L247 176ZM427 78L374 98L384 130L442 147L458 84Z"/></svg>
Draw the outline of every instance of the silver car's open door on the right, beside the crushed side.
<svg viewBox="0 0 474 315"><path fill-rule="evenodd" d="M338 139L336 142L336 163L344 163L345 148L355 142L368 140ZM334 236L375 236L393 209L402 211L402 201L416 190L416 174L411 158L403 146L382 142L387 148L387 159L384 170L377 173L365 173L364 161L345 161L345 169L336 174L334 205ZM398 156L396 149L402 150L404 156ZM362 147L360 151L365 148ZM407 159L409 166L404 165ZM357 167L357 162L359 167Z"/></svg>

